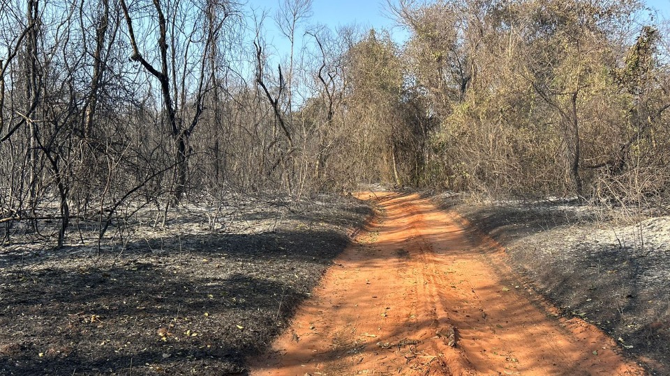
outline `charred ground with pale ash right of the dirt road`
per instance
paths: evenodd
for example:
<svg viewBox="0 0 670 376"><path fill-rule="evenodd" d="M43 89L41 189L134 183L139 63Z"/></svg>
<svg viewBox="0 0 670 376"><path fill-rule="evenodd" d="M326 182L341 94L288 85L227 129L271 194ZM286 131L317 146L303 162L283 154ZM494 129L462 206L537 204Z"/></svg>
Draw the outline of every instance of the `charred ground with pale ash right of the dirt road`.
<svg viewBox="0 0 670 376"><path fill-rule="evenodd" d="M596 324L651 375L670 375L670 217L574 201L431 197L504 246L521 281L563 315Z"/></svg>

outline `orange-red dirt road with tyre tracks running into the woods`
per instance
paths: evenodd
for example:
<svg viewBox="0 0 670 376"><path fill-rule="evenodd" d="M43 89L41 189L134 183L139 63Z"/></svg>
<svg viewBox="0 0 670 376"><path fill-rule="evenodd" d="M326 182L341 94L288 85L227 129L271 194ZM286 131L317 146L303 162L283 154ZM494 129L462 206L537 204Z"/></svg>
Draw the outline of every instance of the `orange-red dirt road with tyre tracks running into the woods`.
<svg viewBox="0 0 670 376"><path fill-rule="evenodd" d="M644 374L597 328L556 317L460 217L417 195L362 198L380 215L252 375Z"/></svg>

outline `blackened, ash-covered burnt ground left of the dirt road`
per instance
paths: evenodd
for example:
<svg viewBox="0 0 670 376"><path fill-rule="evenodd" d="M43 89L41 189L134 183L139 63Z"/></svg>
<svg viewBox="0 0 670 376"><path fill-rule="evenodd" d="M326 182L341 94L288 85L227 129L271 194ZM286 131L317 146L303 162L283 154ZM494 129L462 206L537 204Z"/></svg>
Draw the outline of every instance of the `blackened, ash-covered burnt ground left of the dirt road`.
<svg viewBox="0 0 670 376"><path fill-rule="evenodd" d="M0 375L244 375L362 226L364 203L180 208L120 244L0 248ZM147 217L151 217L148 214Z"/></svg>

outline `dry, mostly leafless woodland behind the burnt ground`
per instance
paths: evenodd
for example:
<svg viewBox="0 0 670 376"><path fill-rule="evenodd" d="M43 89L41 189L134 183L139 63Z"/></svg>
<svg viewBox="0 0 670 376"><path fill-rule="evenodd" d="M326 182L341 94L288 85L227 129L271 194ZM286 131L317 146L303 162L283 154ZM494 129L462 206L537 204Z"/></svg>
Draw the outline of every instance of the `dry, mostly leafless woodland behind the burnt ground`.
<svg viewBox="0 0 670 376"><path fill-rule="evenodd" d="M103 238L146 207L371 182L667 202L670 37L643 3L387 13L402 45L313 25L311 0L1 1L3 241L46 226L62 246L75 221Z"/></svg>

